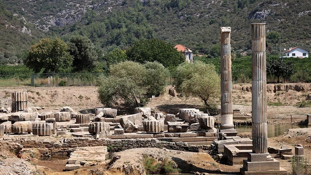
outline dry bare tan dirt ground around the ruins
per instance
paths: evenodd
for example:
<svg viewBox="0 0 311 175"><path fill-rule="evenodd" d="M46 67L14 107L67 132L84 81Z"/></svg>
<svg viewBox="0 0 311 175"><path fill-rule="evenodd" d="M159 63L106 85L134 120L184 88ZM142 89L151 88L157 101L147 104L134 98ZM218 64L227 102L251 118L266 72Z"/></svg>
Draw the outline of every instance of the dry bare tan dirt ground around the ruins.
<svg viewBox="0 0 311 175"><path fill-rule="evenodd" d="M172 113L178 112L179 108L201 108L203 102L198 98L172 97L168 94L169 87L160 97L152 98L146 105L153 111ZM251 92L249 84L239 84L233 87L234 108L241 109L244 113L251 113ZM293 122L306 119L306 114L311 113L311 107L298 108L297 102L308 100L311 92L311 84L268 84L268 102L282 103L285 106L268 106L268 120L270 123L290 123L290 115ZM27 91L29 93L30 106L44 107L41 111L59 111L63 106L71 106L74 110L81 113L94 113L94 108L103 107L97 98L97 87L0 87L0 106L8 107L11 105L11 92ZM220 105L220 99L212 99ZM218 106L220 108L220 106ZM59 108L59 109L55 109ZM118 115L131 114L132 108L116 106ZM41 112L40 111L40 112ZM216 116L217 117L217 116ZM249 133L243 133L250 135ZM294 148L295 144L304 145L304 153L307 158L311 152L311 129L300 128L286 132L284 135L268 139L268 146L280 148L282 145L288 145ZM19 135L18 137L23 137ZM67 137L67 136L63 136ZM47 139L43 138L43 139ZM49 137L49 140L59 140L60 138ZM63 172L66 160L43 161L37 159L17 158L11 151L0 146L0 174L18 174L16 172L5 172L8 166L17 166L21 164L21 171L35 172L38 174L124 174L120 173L123 168L132 165L141 166L142 153L156 158L167 156L172 158L179 168L191 169L193 172L206 172L210 174L236 174L241 166L226 166L216 163L206 153L189 153L182 151L166 151L163 149L143 148L131 149L117 153L120 158L113 164L96 165L94 167L82 168L77 171ZM272 155L276 156L276 155ZM277 157L276 157L277 158ZM30 160L30 162L27 162ZM287 160L281 160L281 166L290 170L290 163ZM107 168L109 170L105 170ZM186 167L186 168L184 168ZM16 169L16 168L15 168ZM19 170L19 168L17 168ZM138 168L139 169L139 168ZM100 172L100 173L98 173ZM27 173L25 173L27 174ZM31 174L31 173L30 173ZM33 173L34 174L34 173Z"/></svg>

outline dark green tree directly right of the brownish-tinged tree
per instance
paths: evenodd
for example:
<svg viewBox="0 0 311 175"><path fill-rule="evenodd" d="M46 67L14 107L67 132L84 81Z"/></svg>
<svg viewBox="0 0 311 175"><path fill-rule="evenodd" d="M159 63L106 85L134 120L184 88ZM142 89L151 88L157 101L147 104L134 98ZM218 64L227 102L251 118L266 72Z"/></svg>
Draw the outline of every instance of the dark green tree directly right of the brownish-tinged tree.
<svg viewBox="0 0 311 175"><path fill-rule="evenodd" d="M70 55L73 57L73 71L92 71L95 68L97 53L91 40L85 36L73 36L68 42Z"/></svg>

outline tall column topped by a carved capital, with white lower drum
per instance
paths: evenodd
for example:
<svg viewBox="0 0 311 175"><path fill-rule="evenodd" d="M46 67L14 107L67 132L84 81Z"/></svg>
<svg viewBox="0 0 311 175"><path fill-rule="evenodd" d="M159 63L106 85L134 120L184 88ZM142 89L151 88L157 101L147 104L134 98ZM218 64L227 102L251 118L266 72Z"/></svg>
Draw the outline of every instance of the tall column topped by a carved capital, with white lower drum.
<svg viewBox="0 0 311 175"><path fill-rule="evenodd" d="M234 129L232 109L232 73L230 27L220 28L221 125L220 130ZM235 131L235 130L234 130Z"/></svg>

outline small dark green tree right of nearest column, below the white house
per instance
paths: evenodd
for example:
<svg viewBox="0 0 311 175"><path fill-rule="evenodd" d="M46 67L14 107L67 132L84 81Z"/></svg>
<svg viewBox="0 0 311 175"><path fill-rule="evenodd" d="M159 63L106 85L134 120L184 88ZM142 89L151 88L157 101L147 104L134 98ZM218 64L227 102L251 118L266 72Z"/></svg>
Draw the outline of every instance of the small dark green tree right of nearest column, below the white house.
<svg viewBox="0 0 311 175"><path fill-rule="evenodd" d="M278 57L270 57L267 59L267 75L277 78L277 83L280 83L280 78L290 78L294 73L294 63L292 61L285 62L285 59Z"/></svg>

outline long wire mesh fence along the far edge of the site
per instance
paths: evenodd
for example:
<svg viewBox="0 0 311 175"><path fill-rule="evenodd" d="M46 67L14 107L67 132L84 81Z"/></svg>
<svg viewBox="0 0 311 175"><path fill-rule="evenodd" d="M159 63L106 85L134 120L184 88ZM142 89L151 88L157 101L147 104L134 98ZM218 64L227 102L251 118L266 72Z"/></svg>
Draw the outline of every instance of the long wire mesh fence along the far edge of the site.
<svg viewBox="0 0 311 175"><path fill-rule="evenodd" d="M220 74L218 71L217 73ZM0 86L96 86L99 77L107 73L33 73L33 74L0 74ZM167 85L174 83L175 72L169 73ZM233 83L251 83L251 70L232 70ZM284 83L311 83L310 70L296 70L290 77L280 77ZM278 78L267 77L267 83L278 83Z"/></svg>

